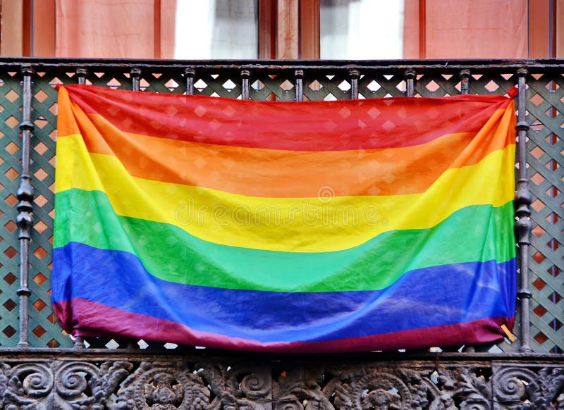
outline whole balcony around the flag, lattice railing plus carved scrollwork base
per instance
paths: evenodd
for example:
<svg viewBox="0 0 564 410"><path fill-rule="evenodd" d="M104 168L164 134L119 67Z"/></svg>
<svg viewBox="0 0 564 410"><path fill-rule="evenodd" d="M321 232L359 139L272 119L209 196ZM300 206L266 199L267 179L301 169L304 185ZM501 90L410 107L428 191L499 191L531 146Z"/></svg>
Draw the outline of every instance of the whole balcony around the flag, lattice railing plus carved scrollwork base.
<svg viewBox="0 0 564 410"><path fill-rule="evenodd" d="M559 60L0 59L1 408L564 406L563 73ZM516 228L523 268L516 273L521 281L517 340L341 355L249 354L104 337L73 340L56 323L49 292L55 87L75 83L283 101L505 94L520 85ZM26 223L28 213L32 224Z"/></svg>

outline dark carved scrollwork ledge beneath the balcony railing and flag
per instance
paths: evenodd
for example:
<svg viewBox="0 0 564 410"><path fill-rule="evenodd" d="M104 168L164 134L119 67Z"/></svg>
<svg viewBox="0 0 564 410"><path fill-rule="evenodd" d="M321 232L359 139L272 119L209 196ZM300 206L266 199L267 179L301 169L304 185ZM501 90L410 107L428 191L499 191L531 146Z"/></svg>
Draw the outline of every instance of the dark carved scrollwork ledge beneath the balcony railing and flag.
<svg viewBox="0 0 564 410"><path fill-rule="evenodd" d="M0 408L563 409L564 355L4 349Z"/></svg>

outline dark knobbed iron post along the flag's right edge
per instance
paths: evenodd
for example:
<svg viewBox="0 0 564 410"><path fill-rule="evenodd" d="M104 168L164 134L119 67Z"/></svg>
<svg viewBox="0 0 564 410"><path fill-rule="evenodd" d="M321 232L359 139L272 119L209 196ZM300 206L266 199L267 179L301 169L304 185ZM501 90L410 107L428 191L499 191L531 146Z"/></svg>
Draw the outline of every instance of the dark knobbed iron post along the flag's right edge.
<svg viewBox="0 0 564 410"><path fill-rule="evenodd" d="M519 178L517 179L517 192L515 193L515 237L517 239L520 273L520 290L518 296L521 304L521 347L520 352L532 352L529 345L529 244L531 238L531 209L532 202L529 192L529 178L527 178L527 131L529 123L526 120L527 97L525 87L527 86L527 75L529 71L525 68L517 70L519 92L517 94L517 157L519 164Z"/></svg>

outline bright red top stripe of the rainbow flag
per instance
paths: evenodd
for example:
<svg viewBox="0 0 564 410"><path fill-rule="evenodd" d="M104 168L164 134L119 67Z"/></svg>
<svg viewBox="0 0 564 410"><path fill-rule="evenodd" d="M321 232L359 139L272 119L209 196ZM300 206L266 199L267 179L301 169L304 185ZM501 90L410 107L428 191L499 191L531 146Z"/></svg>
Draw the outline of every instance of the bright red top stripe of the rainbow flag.
<svg viewBox="0 0 564 410"><path fill-rule="evenodd" d="M65 88L85 113L103 116L123 132L298 151L410 147L441 135L477 132L494 111L506 108L512 101L498 95L241 101L91 85Z"/></svg>

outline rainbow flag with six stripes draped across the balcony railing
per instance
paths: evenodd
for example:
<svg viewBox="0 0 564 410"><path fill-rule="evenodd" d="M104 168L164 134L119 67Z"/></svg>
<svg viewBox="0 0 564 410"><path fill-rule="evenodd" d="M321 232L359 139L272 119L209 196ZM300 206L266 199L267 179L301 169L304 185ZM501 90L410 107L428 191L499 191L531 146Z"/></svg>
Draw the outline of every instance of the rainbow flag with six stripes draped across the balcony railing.
<svg viewBox="0 0 564 410"><path fill-rule="evenodd" d="M513 328L501 96L59 89L52 296L73 335L345 352Z"/></svg>

